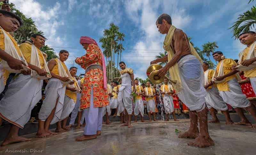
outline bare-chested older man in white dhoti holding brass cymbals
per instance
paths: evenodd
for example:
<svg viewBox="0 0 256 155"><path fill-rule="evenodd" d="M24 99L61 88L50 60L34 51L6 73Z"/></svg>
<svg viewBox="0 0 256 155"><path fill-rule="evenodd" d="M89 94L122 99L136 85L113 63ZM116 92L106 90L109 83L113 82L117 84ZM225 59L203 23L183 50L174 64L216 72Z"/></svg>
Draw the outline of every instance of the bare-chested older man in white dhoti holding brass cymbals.
<svg viewBox="0 0 256 155"><path fill-rule="evenodd" d="M190 128L179 137L196 138L194 142L188 143L188 145L196 147L214 145L208 133L202 60L189 43L188 36L172 25L172 19L168 14L162 14L156 20L156 27L160 33L166 34L164 50L168 51L168 54L152 61L151 64L168 61L156 76L162 77L169 70L172 79L177 80L177 84L173 86L174 90L180 100L190 109ZM200 123L200 132L197 127L197 117Z"/></svg>

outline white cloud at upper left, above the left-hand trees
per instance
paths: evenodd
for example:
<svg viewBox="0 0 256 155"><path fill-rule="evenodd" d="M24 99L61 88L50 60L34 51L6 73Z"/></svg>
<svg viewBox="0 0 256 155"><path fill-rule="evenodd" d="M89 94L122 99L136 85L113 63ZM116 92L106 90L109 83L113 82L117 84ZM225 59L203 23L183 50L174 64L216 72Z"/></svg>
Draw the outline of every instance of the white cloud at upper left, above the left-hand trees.
<svg viewBox="0 0 256 155"><path fill-rule="evenodd" d="M44 36L48 39L46 44L49 46L60 46L65 37L57 34L57 29L64 25L60 20L60 3L55 3L53 7L45 8L42 4L35 0L10 0L15 4L16 8L23 12L27 17L31 17L38 26L38 30L44 32Z"/></svg>

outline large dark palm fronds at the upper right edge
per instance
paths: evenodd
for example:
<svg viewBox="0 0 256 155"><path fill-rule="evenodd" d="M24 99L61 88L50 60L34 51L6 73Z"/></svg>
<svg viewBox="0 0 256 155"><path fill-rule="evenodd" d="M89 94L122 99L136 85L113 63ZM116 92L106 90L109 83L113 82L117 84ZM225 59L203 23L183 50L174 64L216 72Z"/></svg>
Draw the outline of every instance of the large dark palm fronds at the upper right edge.
<svg viewBox="0 0 256 155"><path fill-rule="evenodd" d="M249 3L250 2L251 0ZM240 26L242 23L244 23L244 25ZM251 10L244 12L242 15L239 15L237 21L229 29L232 29L231 32L233 33L233 37L238 39L240 33L250 31L250 28L252 27L255 28L254 24L256 24L256 7L252 6Z"/></svg>

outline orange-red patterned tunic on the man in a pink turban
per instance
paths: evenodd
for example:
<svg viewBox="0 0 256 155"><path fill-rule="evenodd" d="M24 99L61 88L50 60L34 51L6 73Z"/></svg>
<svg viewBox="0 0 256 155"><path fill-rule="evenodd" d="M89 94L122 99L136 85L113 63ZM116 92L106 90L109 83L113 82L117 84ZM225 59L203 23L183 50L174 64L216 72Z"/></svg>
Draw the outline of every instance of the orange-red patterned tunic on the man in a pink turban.
<svg viewBox="0 0 256 155"><path fill-rule="evenodd" d="M100 48L95 44L89 44L86 54L80 58L76 58L76 63L82 64L81 67L84 69L91 64L102 66ZM92 69L84 75L80 109L90 107L91 86L93 86L93 106L105 107L109 105L108 90L103 88L103 71L101 69Z"/></svg>

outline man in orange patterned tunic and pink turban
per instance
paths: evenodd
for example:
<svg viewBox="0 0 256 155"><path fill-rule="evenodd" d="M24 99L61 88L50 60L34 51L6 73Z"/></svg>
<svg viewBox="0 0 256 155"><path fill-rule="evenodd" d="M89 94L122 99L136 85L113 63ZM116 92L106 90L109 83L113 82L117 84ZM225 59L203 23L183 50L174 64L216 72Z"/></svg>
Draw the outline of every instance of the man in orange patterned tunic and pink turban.
<svg viewBox="0 0 256 155"><path fill-rule="evenodd" d="M80 109L85 109L84 134L76 141L94 139L101 134L102 107L108 106L108 90L104 56L97 44L90 37L81 37L80 43L86 54L76 58L85 69Z"/></svg>

